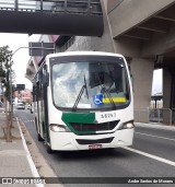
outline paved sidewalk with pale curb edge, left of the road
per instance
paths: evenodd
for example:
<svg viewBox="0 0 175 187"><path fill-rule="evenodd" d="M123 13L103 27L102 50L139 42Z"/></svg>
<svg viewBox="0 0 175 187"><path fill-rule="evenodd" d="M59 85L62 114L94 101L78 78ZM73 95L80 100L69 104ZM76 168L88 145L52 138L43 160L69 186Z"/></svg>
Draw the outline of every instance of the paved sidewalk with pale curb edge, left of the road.
<svg viewBox="0 0 175 187"><path fill-rule="evenodd" d="M26 147L19 121L16 119L13 119L12 136L14 138L12 142L7 142L4 139L2 129L4 126L5 114L0 113L0 177L2 177L0 178L0 186L9 186L5 185L8 183L20 183L15 184L15 186L44 187L44 185L40 184L27 185L27 182L25 179L11 179L11 177L24 177L26 179L28 177L39 177L39 174Z"/></svg>

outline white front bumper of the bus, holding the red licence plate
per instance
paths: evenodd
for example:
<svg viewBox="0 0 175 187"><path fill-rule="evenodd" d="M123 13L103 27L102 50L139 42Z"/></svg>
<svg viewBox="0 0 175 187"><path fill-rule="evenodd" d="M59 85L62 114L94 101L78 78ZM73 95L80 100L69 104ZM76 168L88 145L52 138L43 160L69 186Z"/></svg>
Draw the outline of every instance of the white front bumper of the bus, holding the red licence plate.
<svg viewBox="0 0 175 187"><path fill-rule="evenodd" d="M124 129L114 133L91 136L50 131L50 148L55 151L73 151L128 147L132 144L133 130L133 128Z"/></svg>

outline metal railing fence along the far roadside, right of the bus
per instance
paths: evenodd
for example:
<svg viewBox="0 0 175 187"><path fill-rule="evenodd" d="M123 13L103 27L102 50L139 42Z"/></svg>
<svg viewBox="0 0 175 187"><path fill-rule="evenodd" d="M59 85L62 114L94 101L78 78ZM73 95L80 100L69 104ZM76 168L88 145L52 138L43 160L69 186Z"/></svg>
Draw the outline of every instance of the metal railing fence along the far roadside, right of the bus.
<svg viewBox="0 0 175 187"><path fill-rule="evenodd" d="M135 121L175 125L175 108L135 109Z"/></svg>

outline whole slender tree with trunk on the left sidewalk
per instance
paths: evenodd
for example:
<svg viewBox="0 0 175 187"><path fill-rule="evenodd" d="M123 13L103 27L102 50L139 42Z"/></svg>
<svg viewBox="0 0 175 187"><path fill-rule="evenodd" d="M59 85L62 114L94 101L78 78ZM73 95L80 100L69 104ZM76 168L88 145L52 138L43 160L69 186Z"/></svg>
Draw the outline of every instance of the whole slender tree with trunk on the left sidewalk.
<svg viewBox="0 0 175 187"><path fill-rule="evenodd" d="M7 126L3 128L4 137L7 141L12 141L11 136L11 127L12 121L10 120L10 108L7 108L7 103L12 102L11 98L11 92L10 86L12 84L11 73L12 73L12 51L9 50L9 46L0 47L0 77L1 82L3 83L3 87L5 87L4 92L4 105L5 105L5 117L7 117Z"/></svg>

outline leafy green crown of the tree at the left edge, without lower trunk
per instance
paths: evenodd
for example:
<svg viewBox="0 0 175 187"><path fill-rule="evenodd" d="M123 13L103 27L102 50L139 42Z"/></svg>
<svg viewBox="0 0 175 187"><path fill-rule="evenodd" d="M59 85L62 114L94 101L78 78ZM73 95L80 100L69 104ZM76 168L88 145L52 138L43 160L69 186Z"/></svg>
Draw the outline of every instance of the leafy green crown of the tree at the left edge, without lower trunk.
<svg viewBox="0 0 175 187"><path fill-rule="evenodd" d="M5 87L4 96L10 100L10 72L13 65L12 51L9 50L9 46L0 47L0 77L3 86Z"/></svg>

